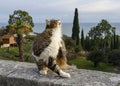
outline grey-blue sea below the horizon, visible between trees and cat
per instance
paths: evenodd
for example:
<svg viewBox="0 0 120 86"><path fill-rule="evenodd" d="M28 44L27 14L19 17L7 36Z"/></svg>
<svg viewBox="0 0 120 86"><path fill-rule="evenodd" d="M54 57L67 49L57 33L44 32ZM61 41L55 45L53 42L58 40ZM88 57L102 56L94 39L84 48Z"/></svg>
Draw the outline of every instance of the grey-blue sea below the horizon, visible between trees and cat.
<svg viewBox="0 0 120 86"><path fill-rule="evenodd" d="M7 23L0 23L0 27L6 26ZM97 23L80 23L80 34L81 34L81 30L83 29L84 31L84 36L88 35L88 32L90 31L90 29L94 26L97 25ZM120 23L111 23L111 25L113 27L116 27L116 34L120 35ZM34 27L33 27L33 32L35 33L41 33L44 31L45 29L45 23L35 23ZM63 23L62 24L62 34L63 35L67 35L67 36L71 36L72 35L72 27L73 24L72 23Z"/></svg>

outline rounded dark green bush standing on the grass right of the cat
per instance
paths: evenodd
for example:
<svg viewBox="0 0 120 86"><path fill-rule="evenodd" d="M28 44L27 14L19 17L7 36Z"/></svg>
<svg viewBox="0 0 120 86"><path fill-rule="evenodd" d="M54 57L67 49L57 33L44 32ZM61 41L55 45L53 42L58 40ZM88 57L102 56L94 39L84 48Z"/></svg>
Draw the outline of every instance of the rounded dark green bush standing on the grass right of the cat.
<svg viewBox="0 0 120 86"><path fill-rule="evenodd" d="M94 67L97 67L100 62L104 61L104 59L103 52L99 50L91 51L87 56L87 60L92 61L94 63Z"/></svg>

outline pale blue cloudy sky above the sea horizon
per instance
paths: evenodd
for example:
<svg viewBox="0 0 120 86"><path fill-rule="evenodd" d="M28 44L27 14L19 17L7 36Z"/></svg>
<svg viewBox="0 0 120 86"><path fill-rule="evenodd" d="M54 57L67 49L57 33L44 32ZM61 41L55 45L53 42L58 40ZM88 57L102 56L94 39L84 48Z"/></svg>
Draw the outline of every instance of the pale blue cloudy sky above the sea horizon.
<svg viewBox="0 0 120 86"><path fill-rule="evenodd" d="M7 23L14 10L24 10L35 23L46 19L73 22L75 8L78 8L79 22L120 23L120 0L0 0L0 22Z"/></svg>

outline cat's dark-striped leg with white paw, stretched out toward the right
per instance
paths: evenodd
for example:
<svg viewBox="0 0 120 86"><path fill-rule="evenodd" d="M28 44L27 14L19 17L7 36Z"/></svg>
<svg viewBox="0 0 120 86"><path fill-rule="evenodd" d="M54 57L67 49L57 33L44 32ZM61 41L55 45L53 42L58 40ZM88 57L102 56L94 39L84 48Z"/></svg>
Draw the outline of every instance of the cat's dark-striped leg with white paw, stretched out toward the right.
<svg viewBox="0 0 120 86"><path fill-rule="evenodd" d="M56 64L56 60L53 59L52 57L49 57L47 67L61 77L65 77L65 78L71 77L69 73L66 73L60 69L60 67Z"/></svg>

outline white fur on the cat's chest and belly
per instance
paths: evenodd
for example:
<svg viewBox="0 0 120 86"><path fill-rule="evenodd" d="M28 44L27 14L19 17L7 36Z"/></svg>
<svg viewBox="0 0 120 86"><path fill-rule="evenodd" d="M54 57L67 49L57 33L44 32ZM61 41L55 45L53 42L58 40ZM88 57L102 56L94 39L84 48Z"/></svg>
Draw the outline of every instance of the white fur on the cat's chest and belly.
<svg viewBox="0 0 120 86"><path fill-rule="evenodd" d="M51 32L51 36L48 37L47 39L44 39L46 37L43 37L43 40L41 40L39 43L39 45L36 48L40 48L38 50L42 50L40 51L40 55L36 57L36 60L38 61L39 59L43 59L43 60L47 60L49 57L53 57L56 58L59 48L61 46L61 28L55 28L52 30ZM50 40L48 42L50 43L46 43L47 40ZM47 46L45 47L45 43L47 44ZM34 53L34 52L33 52Z"/></svg>

